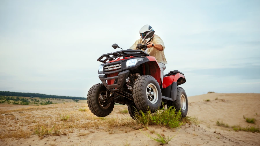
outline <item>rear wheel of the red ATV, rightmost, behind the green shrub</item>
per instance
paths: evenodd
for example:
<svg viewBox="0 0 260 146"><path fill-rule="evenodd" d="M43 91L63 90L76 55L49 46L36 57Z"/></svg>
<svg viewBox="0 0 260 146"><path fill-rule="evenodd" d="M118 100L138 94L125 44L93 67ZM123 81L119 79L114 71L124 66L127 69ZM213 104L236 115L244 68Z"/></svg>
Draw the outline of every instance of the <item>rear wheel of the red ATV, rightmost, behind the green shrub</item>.
<svg viewBox="0 0 260 146"><path fill-rule="evenodd" d="M167 107L174 106L176 112L181 109L181 116L186 117L188 113L188 98L185 90L182 87L177 87L177 98L175 101L167 101Z"/></svg>

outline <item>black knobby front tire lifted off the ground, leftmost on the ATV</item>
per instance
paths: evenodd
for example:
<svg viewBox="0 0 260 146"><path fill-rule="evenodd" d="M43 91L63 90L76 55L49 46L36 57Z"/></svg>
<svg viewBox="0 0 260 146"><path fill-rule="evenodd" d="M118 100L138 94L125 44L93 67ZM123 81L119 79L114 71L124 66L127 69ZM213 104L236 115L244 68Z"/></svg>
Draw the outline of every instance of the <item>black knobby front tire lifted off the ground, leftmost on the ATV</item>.
<svg viewBox="0 0 260 146"><path fill-rule="evenodd" d="M88 91L87 103L88 107L94 115L98 117L105 117L109 115L114 108L115 102L111 102L105 106L102 106L99 102L99 95L102 91L106 91L106 87L103 84L93 85Z"/></svg>

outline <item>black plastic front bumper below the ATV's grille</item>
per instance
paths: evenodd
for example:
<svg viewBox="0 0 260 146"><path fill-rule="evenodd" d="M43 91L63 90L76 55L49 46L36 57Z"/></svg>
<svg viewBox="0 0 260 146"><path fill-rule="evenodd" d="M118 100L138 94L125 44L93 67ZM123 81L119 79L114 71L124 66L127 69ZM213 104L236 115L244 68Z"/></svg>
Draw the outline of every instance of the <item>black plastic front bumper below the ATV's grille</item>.
<svg viewBox="0 0 260 146"><path fill-rule="evenodd" d="M112 77L107 77L107 78L106 78L106 75L101 74L101 75L99 75L99 79L105 85L105 87L107 89L120 88L120 87L123 87L123 85L125 84L125 81L128 77L129 72L130 72L129 70L125 70L123 72L119 72L118 76L112 76ZM117 79L117 83L112 84L112 85L107 85L106 80L112 80L112 79Z"/></svg>

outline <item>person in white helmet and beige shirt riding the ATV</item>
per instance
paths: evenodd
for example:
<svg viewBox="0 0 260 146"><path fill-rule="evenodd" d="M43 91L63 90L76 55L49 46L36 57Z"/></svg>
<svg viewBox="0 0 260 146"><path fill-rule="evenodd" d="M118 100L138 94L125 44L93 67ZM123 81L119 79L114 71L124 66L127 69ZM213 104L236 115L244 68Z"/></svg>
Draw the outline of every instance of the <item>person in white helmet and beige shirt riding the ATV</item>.
<svg viewBox="0 0 260 146"><path fill-rule="evenodd" d="M152 38L147 38L144 40L145 35L149 31L153 31L153 28L150 25L144 25L139 31L141 38L136 40L135 43L129 49L136 50L137 48L135 47L137 46L137 44L141 44L143 41L144 44L150 42L151 44L148 44L147 49L144 51L148 53L150 56L155 57L155 59L157 60L158 65L161 69L161 82L163 82L164 70L166 69L165 64L167 64L167 61L164 56L164 42L156 34L154 34Z"/></svg>

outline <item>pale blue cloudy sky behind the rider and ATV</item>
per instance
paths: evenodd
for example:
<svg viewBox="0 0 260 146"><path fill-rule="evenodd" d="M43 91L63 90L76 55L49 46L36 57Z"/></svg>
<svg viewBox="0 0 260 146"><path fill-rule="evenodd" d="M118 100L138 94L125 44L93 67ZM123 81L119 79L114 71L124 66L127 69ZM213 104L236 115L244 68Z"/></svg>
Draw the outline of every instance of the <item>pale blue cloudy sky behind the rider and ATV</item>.
<svg viewBox="0 0 260 146"><path fill-rule="evenodd" d="M260 1L0 1L0 91L87 97L148 24L187 96L260 93Z"/></svg>

